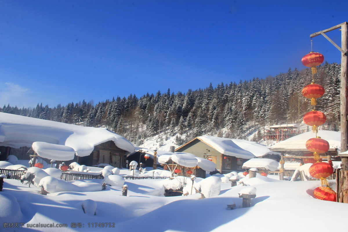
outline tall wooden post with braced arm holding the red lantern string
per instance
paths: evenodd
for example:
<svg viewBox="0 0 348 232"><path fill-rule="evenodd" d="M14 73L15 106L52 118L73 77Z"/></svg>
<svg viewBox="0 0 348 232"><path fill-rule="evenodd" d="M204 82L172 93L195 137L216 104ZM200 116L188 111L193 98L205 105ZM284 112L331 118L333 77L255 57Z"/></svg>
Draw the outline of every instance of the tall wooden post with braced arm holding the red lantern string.
<svg viewBox="0 0 348 232"><path fill-rule="evenodd" d="M341 47L333 42L326 32L333 31L341 28ZM310 35L310 38L317 35L323 35L329 40L333 46L341 51L341 93L340 93L340 116L341 116L341 152L348 150L347 138L348 138L348 124L347 124L347 83L348 83L348 23L344 22L339 25L333 26L329 29L316 32ZM348 203L348 157L341 157L342 165L341 170L337 171L337 200L338 202Z"/></svg>

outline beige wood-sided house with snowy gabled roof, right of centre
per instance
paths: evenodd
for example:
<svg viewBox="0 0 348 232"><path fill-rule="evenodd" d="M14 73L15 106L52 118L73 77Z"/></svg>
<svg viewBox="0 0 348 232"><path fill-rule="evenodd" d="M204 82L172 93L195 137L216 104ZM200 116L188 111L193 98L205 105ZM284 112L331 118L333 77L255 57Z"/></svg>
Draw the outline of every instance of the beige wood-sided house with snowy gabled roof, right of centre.
<svg viewBox="0 0 348 232"><path fill-rule="evenodd" d="M216 164L220 173L242 171L242 165L255 157L278 158L266 146L242 139L199 136L175 149L175 152L188 152Z"/></svg>

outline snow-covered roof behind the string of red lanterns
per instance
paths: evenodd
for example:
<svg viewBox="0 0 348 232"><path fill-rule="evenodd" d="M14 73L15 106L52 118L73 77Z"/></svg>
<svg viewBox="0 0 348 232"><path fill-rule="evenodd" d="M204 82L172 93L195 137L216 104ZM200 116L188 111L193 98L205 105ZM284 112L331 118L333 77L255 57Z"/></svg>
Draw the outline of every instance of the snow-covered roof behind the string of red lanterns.
<svg viewBox="0 0 348 232"><path fill-rule="evenodd" d="M331 130L319 130L317 135L322 139L329 142L329 151L334 151L337 149L339 153L341 150L341 133ZM315 138L315 134L312 131L296 135L294 137L288 138L284 141L274 144L269 147L271 151L308 151L306 149L306 141L310 138Z"/></svg>

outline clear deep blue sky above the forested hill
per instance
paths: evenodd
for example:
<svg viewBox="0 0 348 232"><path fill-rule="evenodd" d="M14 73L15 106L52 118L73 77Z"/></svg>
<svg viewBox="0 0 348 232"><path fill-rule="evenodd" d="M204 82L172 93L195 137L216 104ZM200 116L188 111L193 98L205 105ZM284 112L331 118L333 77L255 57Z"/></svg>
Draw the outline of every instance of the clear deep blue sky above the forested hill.
<svg viewBox="0 0 348 232"><path fill-rule="evenodd" d="M348 1L0 0L0 105L94 103L299 70ZM327 33L338 45L341 32ZM313 50L340 51L323 36Z"/></svg>

